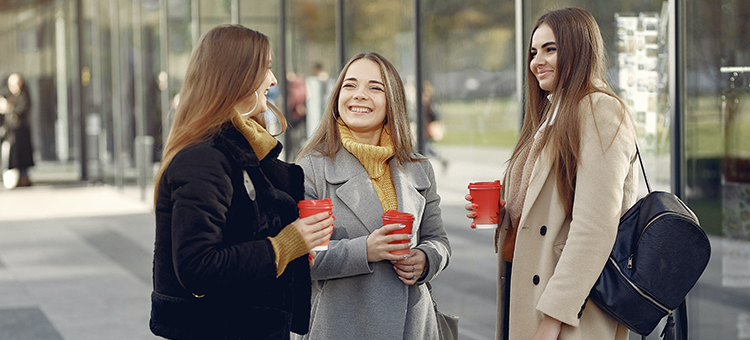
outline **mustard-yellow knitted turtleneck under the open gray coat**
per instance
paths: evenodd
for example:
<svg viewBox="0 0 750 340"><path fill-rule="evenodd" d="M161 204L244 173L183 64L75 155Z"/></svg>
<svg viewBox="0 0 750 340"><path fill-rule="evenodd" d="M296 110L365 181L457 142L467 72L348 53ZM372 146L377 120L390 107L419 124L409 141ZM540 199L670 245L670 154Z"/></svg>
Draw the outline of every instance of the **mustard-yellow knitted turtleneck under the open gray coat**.
<svg viewBox="0 0 750 340"><path fill-rule="evenodd" d="M375 193L380 200L380 205L383 206L383 211L398 210L396 188L393 186L391 167L388 165L388 160L393 157L395 152L393 141L387 130L383 128L380 132L380 145L364 144L354 139L349 127L339 118L341 144L354 157L357 157L362 166L365 167L365 171L367 171L372 186L375 188Z"/></svg>

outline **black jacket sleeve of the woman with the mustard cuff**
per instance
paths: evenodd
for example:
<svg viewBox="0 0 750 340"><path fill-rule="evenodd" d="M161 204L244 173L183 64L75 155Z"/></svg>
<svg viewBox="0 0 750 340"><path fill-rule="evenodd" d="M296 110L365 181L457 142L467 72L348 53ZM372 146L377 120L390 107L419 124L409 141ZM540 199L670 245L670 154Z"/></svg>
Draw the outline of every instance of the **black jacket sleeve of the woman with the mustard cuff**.
<svg viewBox="0 0 750 340"><path fill-rule="evenodd" d="M196 295L276 278L268 239L225 246L222 228L234 193L226 157L211 147L181 151L164 177L172 188L172 261Z"/></svg>

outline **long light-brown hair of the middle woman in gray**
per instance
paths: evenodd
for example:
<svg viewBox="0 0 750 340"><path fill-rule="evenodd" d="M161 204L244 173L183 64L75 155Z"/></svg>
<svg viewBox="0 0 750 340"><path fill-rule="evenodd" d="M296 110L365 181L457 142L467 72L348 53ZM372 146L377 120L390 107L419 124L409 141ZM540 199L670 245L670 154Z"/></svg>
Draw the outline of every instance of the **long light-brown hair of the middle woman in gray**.
<svg viewBox="0 0 750 340"><path fill-rule="evenodd" d="M396 71L396 67L388 59L376 52L363 52L352 57L346 63L339 73L336 85L333 87L333 93L328 99L328 105L320 119L320 124L315 134L310 138L310 142L300 151L297 161L313 151L318 151L324 156L335 157L341 148L341 137L337 118L339 117L339 96L341 95L341 86L344 83L344 77L349 70L349 66L357 60L367 59L374 61L380 66L380 75L385 83L386 114L385 128L393 140L393 148L396 152L396 159L400 164L408 161L417 160L412 156L414 152L414 143L411 139L409 129L409 119L406 115L406 94L401 77Z"/></svg>

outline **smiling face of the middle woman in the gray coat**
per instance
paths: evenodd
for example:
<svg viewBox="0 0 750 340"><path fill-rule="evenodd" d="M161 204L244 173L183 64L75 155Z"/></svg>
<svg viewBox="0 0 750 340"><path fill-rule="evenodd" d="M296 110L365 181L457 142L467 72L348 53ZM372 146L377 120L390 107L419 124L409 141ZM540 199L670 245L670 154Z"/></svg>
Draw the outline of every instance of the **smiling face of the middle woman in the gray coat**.
<svg viewBox="0 0 750 340"><path fill-rule="evenodd" d="M349 65L339 94L338 109L354 138L377 145L386 116L386 94L380 66L368 59Z"/></svg>

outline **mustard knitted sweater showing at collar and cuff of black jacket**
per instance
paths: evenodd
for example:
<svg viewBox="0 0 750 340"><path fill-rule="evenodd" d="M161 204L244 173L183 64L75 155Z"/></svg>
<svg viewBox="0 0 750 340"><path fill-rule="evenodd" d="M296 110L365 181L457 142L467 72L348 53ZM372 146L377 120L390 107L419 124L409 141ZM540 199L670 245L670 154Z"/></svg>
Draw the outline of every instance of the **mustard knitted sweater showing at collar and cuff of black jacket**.
<svg viewBox="0 0 750 340"><path fill-rule="evenodd" d="M258 160L268 156L268 153L278 143L276 138L271 136L255 119L244 119L239 112L232 117L232 125L250 143L250 147L255 151ZM297 227L291 224L284 227L278 235L268 239L271 241L274 254L276 254L276 277L284 273L289 262L310 251L302 234L299 233Z"/></svg>

